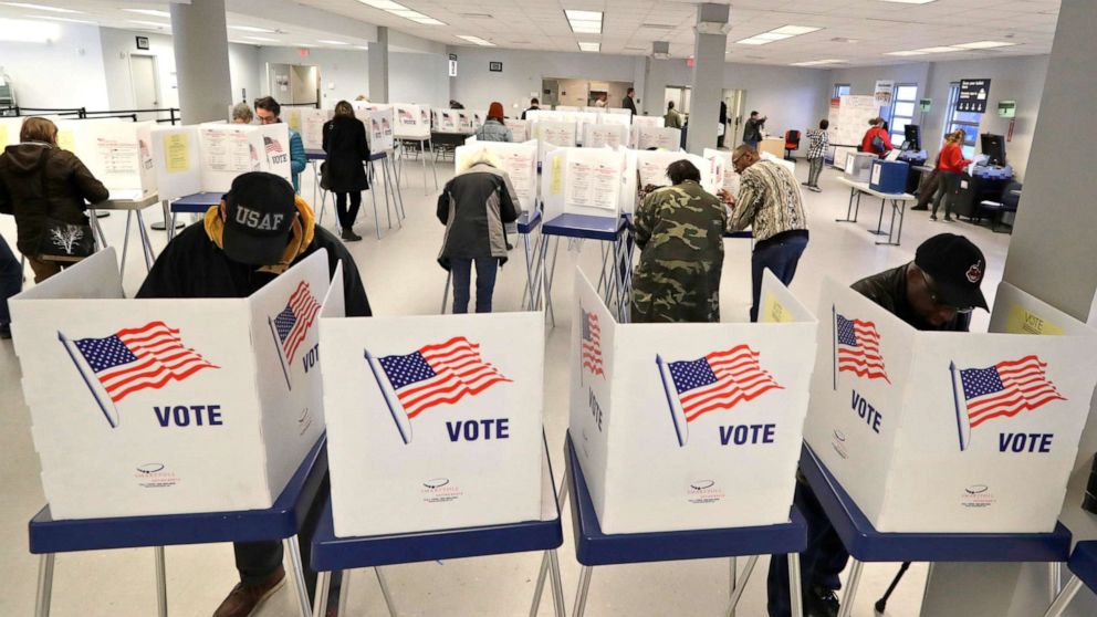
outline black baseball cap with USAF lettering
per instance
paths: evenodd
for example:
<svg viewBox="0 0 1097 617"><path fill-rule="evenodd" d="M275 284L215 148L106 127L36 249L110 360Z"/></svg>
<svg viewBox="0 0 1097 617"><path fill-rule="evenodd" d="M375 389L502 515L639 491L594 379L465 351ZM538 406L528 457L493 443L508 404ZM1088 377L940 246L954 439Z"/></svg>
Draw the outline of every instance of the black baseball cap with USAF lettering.
<svg viewBox="0 0 1097 617"><path fill-rule="evenodd" d="M290 242L297 212L293 186L265 171L241 174L224 194L221 248L232 261L274 265Z"/></svg>

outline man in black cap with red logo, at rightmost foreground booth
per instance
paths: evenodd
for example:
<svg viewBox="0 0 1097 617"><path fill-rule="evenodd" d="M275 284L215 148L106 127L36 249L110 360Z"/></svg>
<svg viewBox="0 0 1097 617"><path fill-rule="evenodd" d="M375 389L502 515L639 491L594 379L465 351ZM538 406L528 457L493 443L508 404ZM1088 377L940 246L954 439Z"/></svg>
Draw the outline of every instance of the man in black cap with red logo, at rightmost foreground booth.
<svg viewBox="0 0 1097 617"><path fill-rule="evenodd" d="M980 285L986 272L983 252L963 236L941 233L922 242L915 261L861 279L854 291L921 331L968 332L971 313L986 310ZM801 553L804 615L834 617L840 608L835 590L849 553L826 517L818 498L797 472L796 508L807 521L807 547ZM770 617L788 617L788 562L770 558Z"/></svg>

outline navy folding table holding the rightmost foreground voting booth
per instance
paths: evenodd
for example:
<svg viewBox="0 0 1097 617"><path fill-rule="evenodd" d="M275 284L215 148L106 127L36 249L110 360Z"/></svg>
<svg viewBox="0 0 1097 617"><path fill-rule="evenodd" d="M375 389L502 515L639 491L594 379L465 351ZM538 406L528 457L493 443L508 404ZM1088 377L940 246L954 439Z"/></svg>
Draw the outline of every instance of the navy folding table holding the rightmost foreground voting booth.
<svg viewBox="0 0 1097 617"><path fill-rule="evenodd" d="M853 610L864 562L1048 562L1055 572L1070 554L1062 523L1051 533L880 533L806 443L800 469L853 557L838 617Z"/></svg>

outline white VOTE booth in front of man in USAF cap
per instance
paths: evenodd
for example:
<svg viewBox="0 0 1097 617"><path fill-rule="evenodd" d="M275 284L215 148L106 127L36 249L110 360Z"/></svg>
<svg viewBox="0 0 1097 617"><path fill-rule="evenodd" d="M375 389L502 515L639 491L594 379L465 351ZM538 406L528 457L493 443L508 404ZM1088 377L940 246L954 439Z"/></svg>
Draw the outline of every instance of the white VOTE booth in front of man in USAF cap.
<svg viewBox="0 0 1097 617"><path fill-rule="evenodd" d="M125 300L113 249L11 299L54 519L270 508L324 431L317 251L243 299Z"/></svg>

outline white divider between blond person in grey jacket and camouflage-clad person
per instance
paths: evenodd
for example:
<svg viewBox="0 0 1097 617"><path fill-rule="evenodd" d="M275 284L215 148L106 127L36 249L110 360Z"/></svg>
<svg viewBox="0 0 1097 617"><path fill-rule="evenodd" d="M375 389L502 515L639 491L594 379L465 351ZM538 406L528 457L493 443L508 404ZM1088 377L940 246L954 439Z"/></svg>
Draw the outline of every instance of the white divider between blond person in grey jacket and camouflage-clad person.
<svg viewBox="0 0 1097 617"><path fill-rule="evenodd" d="M545 220L561 215L617 219L627 157L609 148L556 148L541 170Z"/></svg>

